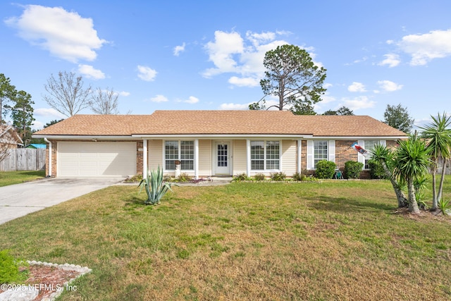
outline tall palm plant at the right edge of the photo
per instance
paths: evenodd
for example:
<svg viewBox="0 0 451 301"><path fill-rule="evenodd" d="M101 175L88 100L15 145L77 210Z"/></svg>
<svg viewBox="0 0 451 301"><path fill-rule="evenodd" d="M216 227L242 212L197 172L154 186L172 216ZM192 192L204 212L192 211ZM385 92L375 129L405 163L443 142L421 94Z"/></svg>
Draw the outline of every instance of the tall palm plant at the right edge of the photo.
<svg viewBox="0 0 451 301"><path fill-rule="evenodd" d="M425 127L421 127L421 136L428 140L428 154L432 159L431 173L432 173L432 208L438 208L438 202L442 198L443 180L445 179L445 169L447 160L451 158L451 116L446 116L445 113L438 113L437 117L431 116L433 122ZM441 161L442 174L440 178L440 186L438 192L436 190L435 179L438 169L438 164Z"/></svg>

